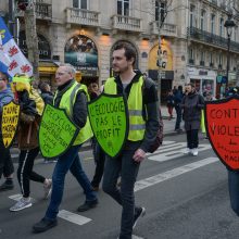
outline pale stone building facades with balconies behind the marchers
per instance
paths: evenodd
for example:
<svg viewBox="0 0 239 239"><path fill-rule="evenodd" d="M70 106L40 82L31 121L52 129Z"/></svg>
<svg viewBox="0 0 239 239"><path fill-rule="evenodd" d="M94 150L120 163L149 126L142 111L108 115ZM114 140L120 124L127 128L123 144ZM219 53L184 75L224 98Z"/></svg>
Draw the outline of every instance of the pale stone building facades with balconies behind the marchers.
<svg viewBox="0 0 239 239"><path fill-rule="evenodd" d="M0 2L0 14L7 21L8 2ZM214 96L225 90L224 23L229 13L236 24L239 21L231 1L227 4L225 0L36 0L35 7L42 80L53 84L55 63L67 62L81 72L84 83L101 85L112 75L111 54L118 41L127 41L136 49L135 67L156 80L160 34L162 100L173 86L188 81L194 83L199 91L212 91ZM18 45L27 55L23 13L15 13L20 22ZM239 32L235 27L228 77L231 86L237 85L238 61Z"/></svg>

